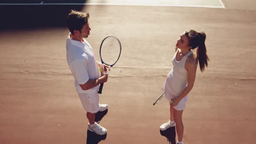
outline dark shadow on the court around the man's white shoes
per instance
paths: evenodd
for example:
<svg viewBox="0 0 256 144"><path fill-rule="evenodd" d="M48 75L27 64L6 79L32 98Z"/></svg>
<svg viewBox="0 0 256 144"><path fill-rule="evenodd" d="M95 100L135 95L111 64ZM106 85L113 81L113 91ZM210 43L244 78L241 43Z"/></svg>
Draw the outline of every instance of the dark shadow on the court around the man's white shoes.
<svg viewBox="0 0 256 144"><path fill-rule="evenodd" d="M108 109L104 111L98 111L95 114L95 122L100 123L101 119L108 113ZM106 140L107 133L104 135L97 135L96 133L87 130L87 144L97 144L102 140Z"/></svg>

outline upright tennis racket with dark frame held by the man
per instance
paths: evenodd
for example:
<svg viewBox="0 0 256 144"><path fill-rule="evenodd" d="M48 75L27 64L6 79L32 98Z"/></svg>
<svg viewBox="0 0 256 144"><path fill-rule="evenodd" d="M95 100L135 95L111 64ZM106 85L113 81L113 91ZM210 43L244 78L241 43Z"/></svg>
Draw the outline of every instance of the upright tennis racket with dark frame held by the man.
<svg viewBox="0 0 256 144"><path fill-rule="evenodd" d="M121 55L121 43L118 40L118 38L115 38L113 36L108 36L104 38L101 42L100 47L100 57L101 57L101 63L108 65L109 68L107 71L104 71L104 74L108 73L108 70L113 67L115 63L117 63L119 57ZM104 66L103 66L104 70ZM100 88L98 89L98 93L102 93L103 84L101 83Z"/></svg>

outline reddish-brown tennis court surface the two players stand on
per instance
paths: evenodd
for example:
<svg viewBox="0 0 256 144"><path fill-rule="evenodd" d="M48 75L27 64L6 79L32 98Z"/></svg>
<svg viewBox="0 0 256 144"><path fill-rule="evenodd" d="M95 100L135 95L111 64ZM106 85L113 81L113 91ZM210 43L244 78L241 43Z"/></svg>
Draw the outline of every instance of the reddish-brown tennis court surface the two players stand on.
<svg viewBox="0 0 256 144"><path fill-rule="evenodd" d="M71 9L90 13L87 40L98 61L104 37L122 44L100 96L109 105L100 143L168 143L159 133L169 118L168 101L153 103L186 29L206 33L211 61L205 73L197 70L183 112L183 142L255 143L256 2L222 2L224 8L0 5L0 143L86 143L88 119L66 62Z"/></svg>

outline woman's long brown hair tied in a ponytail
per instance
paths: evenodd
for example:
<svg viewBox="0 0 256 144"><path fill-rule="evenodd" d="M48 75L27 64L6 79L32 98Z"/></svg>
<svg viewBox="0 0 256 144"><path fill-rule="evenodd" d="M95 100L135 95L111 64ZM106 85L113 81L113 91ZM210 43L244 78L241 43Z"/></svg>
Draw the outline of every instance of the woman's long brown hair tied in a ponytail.
<svg viewBox="0 0 256 144"><path fill-rule="evenodd" d="M206 34L204 32L197 33L193 29L185 31L185 35L189 40L189 46L191 49L196 50L196 59L199 62L199 67L201 72L205 71L205 67L208 67L208 61L210 61L209 57L207 56L207 50L205 46L205 39Z"/></svg>

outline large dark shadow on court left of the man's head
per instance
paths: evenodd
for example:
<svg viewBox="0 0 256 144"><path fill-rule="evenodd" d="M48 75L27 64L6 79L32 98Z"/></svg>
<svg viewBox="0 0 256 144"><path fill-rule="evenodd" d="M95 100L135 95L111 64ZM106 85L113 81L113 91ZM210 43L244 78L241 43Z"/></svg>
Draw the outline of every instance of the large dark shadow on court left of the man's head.
<svg viewBox="0 0 256 144"><path fill-rule="evenodd" d="M59 3L74 3L58 1ZM86 3L76 1L77 3ZM21 3L21 2L20 2ZM23 2L25 4L27 2ZM49 2L50 3L50 2ZM48 4L49 4L48 3ZM0 5L1 30L66 27L70 10L82 10L85 5Z"/></svg>

